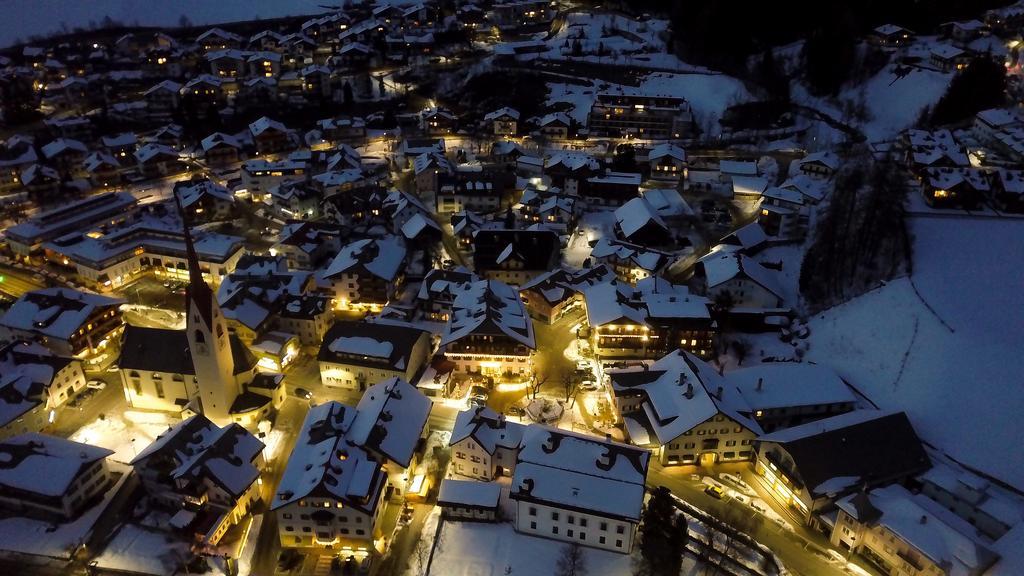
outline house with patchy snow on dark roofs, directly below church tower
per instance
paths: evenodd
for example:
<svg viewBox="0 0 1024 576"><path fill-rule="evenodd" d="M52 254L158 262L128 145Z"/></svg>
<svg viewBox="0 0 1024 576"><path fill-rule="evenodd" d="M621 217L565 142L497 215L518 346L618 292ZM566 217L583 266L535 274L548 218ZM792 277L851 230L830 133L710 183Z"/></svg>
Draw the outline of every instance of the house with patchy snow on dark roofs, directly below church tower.
<svg viewBox="0 0 1024 576"><path fill-rule="evenodd" d="M146 495L175 510L172 526L215 546L260 501L263 448L242 426L197 414L158 436L131 465Z"/></svg>

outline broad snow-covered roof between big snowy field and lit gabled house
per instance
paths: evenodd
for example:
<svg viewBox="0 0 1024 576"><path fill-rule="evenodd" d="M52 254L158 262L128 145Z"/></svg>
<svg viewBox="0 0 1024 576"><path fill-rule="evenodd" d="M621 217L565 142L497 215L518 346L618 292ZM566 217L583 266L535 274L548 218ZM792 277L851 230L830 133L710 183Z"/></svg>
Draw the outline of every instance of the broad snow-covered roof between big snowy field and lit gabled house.
<svg viewBox="0 0 1024 576"><path fill-rule="evenodd" d="M853 392L835 371L819 364L759 364L728 374L754 410L853 404Z"/></svg>

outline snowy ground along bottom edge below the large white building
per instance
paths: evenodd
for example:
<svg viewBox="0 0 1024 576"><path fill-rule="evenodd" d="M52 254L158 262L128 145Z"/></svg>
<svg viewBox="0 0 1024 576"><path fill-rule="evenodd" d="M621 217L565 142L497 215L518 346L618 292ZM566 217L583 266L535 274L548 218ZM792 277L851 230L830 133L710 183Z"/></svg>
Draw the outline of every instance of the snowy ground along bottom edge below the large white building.
<svg viewBox="0 0 1024 576"><path fill-rule="evenodd" d="M564 542L519 534L511 524L445 522L441 544L434 552L430 573L445 576L547 576L555 574L555 566L564 545ZM596 548L583 549L588 576L633 573L633 558L630 556ZM697 574L700 574L700 568L696 562L685 558L680 575Z"/></svg>

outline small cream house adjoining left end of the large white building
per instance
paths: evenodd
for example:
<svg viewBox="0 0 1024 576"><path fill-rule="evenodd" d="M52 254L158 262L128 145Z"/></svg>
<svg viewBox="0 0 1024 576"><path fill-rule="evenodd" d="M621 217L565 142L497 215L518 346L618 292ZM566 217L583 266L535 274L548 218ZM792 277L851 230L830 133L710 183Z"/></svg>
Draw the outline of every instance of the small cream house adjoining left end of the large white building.
<svg viewBox="0 0 1024 576"><path fill-rule="evenodd" d="M485 406L459 412L449 441L452 470L484 482L512 476L525 428Z"/></svg>

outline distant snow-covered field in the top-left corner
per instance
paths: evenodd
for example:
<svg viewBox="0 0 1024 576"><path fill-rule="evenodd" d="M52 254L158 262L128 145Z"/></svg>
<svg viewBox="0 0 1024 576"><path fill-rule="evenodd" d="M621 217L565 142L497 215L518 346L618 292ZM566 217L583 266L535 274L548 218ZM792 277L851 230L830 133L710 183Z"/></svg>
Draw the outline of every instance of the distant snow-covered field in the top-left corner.
<svg viewBox="0 0 1024 576"><path fill-rule="evenodd" d="M52 34L68 28L88 28L104 16L139 26L178 26L184 14L193 24L214 24L289 15L315 14L326 11L318 0L4 0L0 2L9 23L17 26L0 27L0 46L9 46L18 39L27 41L36 34ZM330 3L327 3L330 4Z"/></svg>

